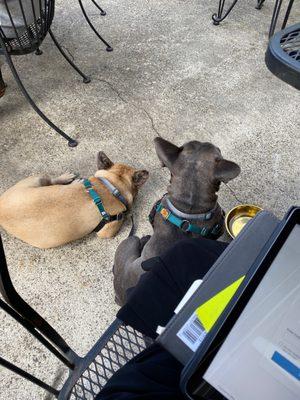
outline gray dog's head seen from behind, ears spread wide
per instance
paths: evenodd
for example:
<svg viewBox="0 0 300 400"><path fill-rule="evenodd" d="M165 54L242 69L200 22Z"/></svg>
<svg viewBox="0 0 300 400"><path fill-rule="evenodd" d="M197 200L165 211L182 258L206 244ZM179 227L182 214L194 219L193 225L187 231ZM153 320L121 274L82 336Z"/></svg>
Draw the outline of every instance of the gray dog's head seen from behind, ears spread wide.
<svg viewBox="0 0 300 400"><path fill-rule="evenodd" d="M162 166L167 167L172 180L178 184L211 186L218 189L221 182L236 178L240 167L222 157L218 147L211 143L192 141L177 147L162 138L155 139L155 148Z"/></svg>

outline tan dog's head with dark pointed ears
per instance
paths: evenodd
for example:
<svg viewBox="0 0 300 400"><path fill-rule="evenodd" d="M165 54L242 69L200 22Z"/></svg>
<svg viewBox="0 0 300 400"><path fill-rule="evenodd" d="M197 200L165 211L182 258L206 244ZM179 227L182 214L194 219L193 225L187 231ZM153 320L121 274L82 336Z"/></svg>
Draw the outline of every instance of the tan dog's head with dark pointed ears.
<svg viewBox="0 0 300 400"><path fill-rule="evenodd" d="M136 195L138 189L149 177L149 172L146 170L136 170L125 164L114 164L103 151L97 155L97 168L109 170L121 180L127 181L131 185L133 195Z"/></svg>

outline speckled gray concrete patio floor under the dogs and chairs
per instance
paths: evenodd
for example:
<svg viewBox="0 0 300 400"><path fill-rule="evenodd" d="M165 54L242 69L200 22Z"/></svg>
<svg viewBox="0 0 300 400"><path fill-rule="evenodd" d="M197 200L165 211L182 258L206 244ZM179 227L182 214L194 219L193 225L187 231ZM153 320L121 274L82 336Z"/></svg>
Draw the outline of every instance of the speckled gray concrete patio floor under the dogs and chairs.
<svg viewBox="0 0 300 400"><path fill-rule="evenodd" d="M107 53L89 29L77 2L57 2L53 31L92 77L89 85L66 64L49 37L40 57L15 59L27 88L45 113L79 146L67 142L33 112L4 70L0 100L0 193L28 175L65 171L89 175L98 150L113 160L148 169L135 203L138 234L151 233L147 215L164 192L153 138L177 144L197 139L218 145L242 174L229 186L243 202L282 216L300 203L299 92L264 64L273 3L261 11L240 1L223 25L211 14L217 1L105 0L105 18L88 10L114 51ZM299 15L299 14L298 14ZM237 199L225 186L225 210ZM94 234L70 245L39 250L1 232L13 281L68 343L83 355L117 311L112 286L114 251L128 235L100 241ZM59 362L0 313L0 354L52 383ZM0 368L1 400L49 399L43 390Z"/></svg>

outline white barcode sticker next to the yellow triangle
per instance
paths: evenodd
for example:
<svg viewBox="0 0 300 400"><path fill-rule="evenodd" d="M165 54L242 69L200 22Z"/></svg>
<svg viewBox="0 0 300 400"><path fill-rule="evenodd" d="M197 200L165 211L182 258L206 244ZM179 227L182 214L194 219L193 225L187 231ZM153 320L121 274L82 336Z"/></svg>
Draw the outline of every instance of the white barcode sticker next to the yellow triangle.
<svg viewBox="0 0 300 400"><path fill-rule="evenodd" d="M193 352L195 352L203 342L207 332L203 328L196 313L187 320L183 327L178 331L177 336Z"/></svg>

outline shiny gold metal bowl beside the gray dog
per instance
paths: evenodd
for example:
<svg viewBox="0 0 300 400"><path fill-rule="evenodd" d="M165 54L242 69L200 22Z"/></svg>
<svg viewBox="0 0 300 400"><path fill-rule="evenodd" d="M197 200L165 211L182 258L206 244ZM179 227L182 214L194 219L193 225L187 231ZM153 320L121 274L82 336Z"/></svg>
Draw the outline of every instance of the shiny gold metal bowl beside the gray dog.
<svg viewBox="0 0 300 400"><path fill-rule="evenodd" d="M232 208L225 218L225 227L229 235L234 239L241 232L244 226L262 211L262 208L253 204L241 204Z"/></svg>

